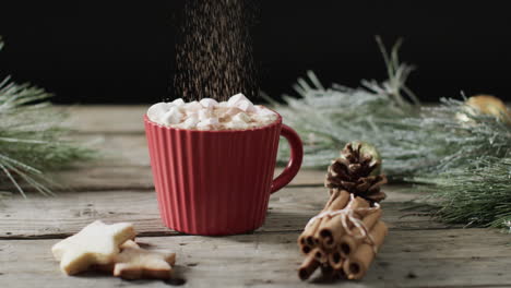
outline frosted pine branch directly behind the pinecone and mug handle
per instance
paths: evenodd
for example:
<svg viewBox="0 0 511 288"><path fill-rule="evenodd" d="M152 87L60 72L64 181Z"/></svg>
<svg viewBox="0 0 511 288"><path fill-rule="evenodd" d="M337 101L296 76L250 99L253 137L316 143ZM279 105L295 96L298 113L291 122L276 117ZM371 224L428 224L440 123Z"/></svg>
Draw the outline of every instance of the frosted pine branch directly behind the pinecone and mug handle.
<svg viewBox="0 0 511 288"><path fill-rule="evenodd" d="M404 85L414 68L399 62L399 48L400 43L389 55L380 45L389 71L389 80L382 83L363 81L363 87L357 88L333 84L325 89L309 71L309 81L298 79L294 86L301 98L285 95L285 105L274 105L305 141L304 167L325 168L347 142L358 140L379 147L388 159L384 169L390 176L409 175L416 169L419 164L415 153L402 149L397 140L392 139L399 123L390 124L412 117L419 109L416 96ZM285 163L288 156L287 146L281 145L280 163Z"/></svg>

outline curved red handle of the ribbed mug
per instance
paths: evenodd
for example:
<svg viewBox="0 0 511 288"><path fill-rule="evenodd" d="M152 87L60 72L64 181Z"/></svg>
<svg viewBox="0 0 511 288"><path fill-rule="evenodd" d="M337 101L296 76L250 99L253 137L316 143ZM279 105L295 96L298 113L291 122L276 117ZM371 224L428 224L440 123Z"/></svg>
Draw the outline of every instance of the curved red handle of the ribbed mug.
<svg viewBox="0 0 511 288"><path fill-rule="evenodd" d="M272 194L287 185L293 178L295 178L300 170L301 160L304 159L304 145L295 130L288 125L282 124L281 135L284 136L289 144L290 158L284 171L273 180L270 189L270 193Z"/></svg>

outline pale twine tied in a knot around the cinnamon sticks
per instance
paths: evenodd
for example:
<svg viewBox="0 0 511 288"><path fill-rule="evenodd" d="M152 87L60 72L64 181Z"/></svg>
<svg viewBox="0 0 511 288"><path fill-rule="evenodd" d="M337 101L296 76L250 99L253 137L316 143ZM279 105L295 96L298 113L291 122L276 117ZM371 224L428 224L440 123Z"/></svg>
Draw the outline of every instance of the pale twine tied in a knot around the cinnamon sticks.
<svg viewBox="0 0 511 288"><path fill-rule="evenodd" d="M378 248L375 244L375 240L369 233L369 230L364 224L364 221L356 217L356 214L367 216L368 214L376 213L377 211L380 209L380 204L375 203L372 207L354 207L354 203L355 203L354 199L355 199L355 195L349 194L349 202L346 205L346 207L342 209L337 209L337 211L323 211L320 214L316 215L314 217L310 218L310 220L306 225L306 229L307 229L307 226L310 226L312 223L314 223L318 219L321 219L323 217L333 218L340 215L341 216L340 220L341 220L341 224L343 225L345 233L354 237L356 240L367 240L369 244L372 247L372 250L376 254L378 253ZM357 235L353 232L354 229L358 230Z"/></svg>

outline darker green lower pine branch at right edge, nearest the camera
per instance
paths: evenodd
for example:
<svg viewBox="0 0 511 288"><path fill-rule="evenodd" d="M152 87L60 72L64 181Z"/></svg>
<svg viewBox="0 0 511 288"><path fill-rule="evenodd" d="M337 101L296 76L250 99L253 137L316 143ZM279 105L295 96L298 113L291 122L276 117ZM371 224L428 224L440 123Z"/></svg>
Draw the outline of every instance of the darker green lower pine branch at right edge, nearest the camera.
<svg viewBox="0 0 511 288"><path fill-rule="evenodd" d="M509 228L511 225L511 157L485 157L472 167L437 177L416 177L429 190L438 219L467 227Z"/></svg>

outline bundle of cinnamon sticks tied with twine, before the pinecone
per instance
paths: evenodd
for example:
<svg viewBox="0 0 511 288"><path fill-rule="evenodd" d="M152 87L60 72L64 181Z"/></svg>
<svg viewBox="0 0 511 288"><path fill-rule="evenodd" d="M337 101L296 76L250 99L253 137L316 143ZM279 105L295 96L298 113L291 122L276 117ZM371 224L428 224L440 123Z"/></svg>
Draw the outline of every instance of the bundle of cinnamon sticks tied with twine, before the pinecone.
<svg viewBox="0 0 511 288"><path fill-rule="evenodd" d="M318 267L328 278L364 277L387 236L381 214L379 206L370 207L361 197L333 191L298 238L300 251L307 255L298 269L299 278L308 279Z"/></svg>

